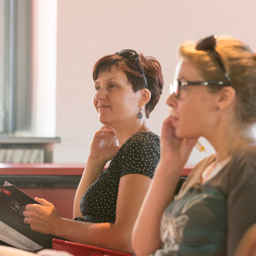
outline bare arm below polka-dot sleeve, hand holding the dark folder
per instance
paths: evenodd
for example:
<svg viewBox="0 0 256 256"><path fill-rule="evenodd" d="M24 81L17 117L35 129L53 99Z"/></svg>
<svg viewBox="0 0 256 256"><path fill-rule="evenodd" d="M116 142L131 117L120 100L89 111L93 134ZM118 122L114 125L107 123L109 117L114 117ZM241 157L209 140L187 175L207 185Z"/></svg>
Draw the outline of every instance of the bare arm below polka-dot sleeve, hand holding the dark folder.
<svg viewBox="0 0 256 256"><path fill-rule="evenodd" d="M116 223L85 223L61 218L55 207L42 199L37 199L42 205L27 205L24 217L36 232L131 253L131 232L150 182L150 178L141 174L121 178Z"/></svg>

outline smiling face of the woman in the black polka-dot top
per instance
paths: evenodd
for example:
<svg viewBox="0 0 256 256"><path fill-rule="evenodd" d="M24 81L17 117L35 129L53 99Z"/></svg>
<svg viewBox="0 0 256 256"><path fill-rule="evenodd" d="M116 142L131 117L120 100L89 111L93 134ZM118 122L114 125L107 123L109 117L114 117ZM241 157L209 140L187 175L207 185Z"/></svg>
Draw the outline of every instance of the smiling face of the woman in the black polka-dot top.
<svg viewBox="0 0 256 256"><path fill-rule="evenodd" d="M101 123L115 128L138 119L140 91L132 90L126 73L115 66L110 72L99 73L95 90L93 104Z"/></svg>

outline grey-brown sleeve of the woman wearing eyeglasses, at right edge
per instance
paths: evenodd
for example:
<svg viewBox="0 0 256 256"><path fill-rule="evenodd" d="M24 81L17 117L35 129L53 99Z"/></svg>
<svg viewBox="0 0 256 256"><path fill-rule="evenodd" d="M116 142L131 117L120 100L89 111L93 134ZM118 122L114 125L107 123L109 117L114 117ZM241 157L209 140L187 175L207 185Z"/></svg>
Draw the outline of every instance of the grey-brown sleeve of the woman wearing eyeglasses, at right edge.
<svg viewBox="0 0 256 256"><path fill-rule="evenodd" d="M233 255L245 231L256 223L256 147L238 152L227 177L227 252Z"/></svg>

